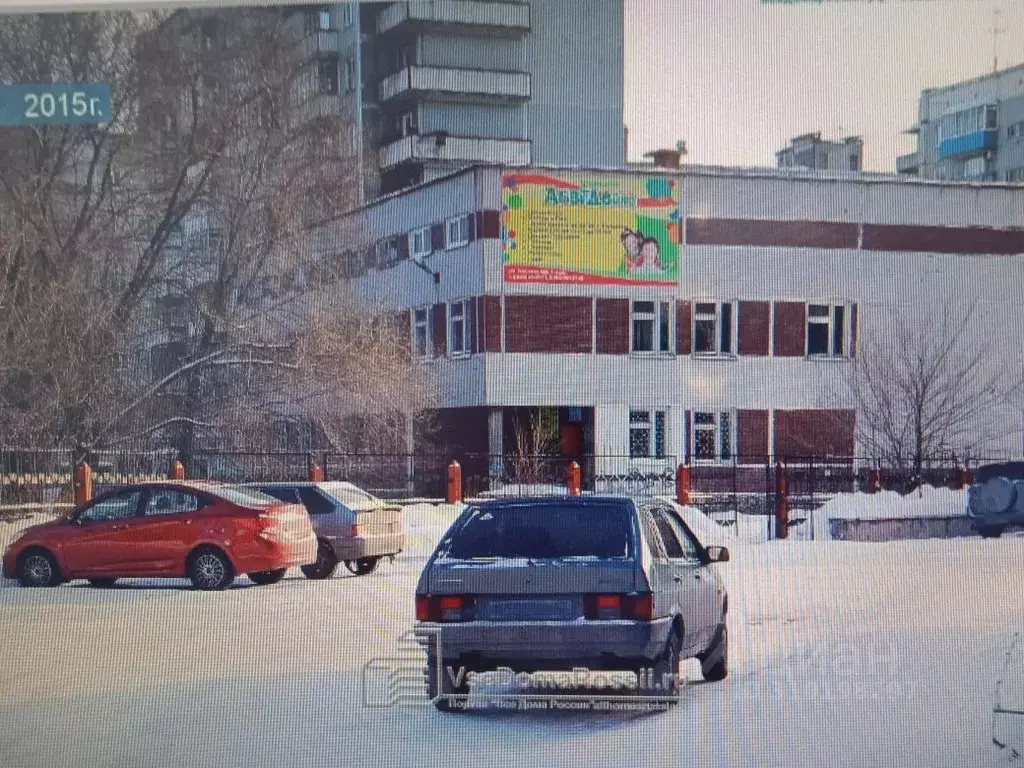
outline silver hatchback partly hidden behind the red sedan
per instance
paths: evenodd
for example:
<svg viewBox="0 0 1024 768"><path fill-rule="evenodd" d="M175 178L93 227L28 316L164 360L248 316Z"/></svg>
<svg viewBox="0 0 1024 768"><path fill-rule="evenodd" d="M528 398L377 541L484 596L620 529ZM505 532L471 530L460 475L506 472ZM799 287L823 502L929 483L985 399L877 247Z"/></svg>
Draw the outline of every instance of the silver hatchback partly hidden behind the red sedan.
<svg viewBox="0 0 1024 768"><path fill-rule="evenodd" d="M303 565L307 579L330 579L338 563L355 575L371 573L383 557L406 546L401 508L350 482L250 483L267 496L305 506L316 531L316 562Z"/></svg>

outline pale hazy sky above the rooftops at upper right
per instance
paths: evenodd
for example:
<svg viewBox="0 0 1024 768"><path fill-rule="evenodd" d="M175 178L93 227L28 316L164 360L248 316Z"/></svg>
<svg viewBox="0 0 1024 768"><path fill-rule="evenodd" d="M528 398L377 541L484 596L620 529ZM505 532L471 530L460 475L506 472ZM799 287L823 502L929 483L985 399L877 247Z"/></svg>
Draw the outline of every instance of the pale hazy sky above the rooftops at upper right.
<svg viewBox="0 0 1024 768"><path fill-rule="evenodd" d="M864 139L892 172L925 88L1024 63L1024 0L624 0L629 155L774 165L801 133Z"/></svg>

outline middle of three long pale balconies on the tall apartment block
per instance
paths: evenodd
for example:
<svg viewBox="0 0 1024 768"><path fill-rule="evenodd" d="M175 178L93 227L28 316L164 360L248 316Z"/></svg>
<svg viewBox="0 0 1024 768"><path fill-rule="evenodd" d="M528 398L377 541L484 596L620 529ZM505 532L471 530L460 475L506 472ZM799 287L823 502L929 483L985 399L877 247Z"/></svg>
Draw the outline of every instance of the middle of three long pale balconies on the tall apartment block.
<svg viewBox="0 0 1024 768"><path fill-rule="evenodd" d="M381 81L381 101L415 95L461 101L524 101L529 98L529 75L524 72L407 67Z"/></svg>

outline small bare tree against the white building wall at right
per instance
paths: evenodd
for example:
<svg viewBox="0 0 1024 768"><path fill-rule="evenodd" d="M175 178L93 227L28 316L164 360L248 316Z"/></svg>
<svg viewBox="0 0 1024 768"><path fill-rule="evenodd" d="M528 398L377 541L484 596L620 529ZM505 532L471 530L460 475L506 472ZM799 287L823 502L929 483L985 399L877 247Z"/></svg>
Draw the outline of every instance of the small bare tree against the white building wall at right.
<svg viewBox="0 0 1024 768"><path fill-rule="evenodd" d="M861 339L836 393L856 409L860 445L911 483L928 462L979 457L1019 428L1005 418L1021 390L1017 361L996 355L982 319L977 305L952 301L932 313L890 311L885 331Z"/></svg>

